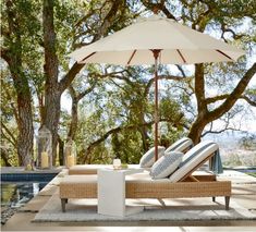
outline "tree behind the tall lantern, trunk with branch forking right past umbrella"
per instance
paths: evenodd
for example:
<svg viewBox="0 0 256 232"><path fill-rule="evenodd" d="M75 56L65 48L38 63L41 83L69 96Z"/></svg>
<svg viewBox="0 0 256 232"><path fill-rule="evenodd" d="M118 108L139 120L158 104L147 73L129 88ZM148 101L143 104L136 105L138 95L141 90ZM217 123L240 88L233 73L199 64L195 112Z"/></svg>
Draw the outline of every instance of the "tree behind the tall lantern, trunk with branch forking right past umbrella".
<svg viewBox="0 0 256 232"><path fill-rule="evenodd" d="M58 143L58 124L60 119L60 98L61 94L70 86L75 75L84 66L83 63L74 63L65 76L58 82L58 57L56 51L56 33L53 25L53 0L44 0L42 7L42 25L44 25L44 47L45 47L45 74L46 74L46 93L45 93L45 118L42 122L52 133L52 158L54 164L57 143ZM119 7L125 5L124 1L111 2L111 9L105 17L98 33L94 36L93 41L107 35L113 19L115 17Z"/></svg>

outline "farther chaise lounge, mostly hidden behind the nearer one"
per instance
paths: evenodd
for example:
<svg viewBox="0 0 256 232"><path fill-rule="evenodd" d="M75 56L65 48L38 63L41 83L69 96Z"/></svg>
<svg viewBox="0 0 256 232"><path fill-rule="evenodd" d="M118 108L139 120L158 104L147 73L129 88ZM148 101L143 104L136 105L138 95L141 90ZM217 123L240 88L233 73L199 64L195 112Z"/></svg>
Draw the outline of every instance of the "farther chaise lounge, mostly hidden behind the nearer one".
<svg viewBox="0 0 256 232"><path fill-rule="evenodd" d="M181 139L169 146L166 151L181 151L186 152L193 147L193 142L188 137L182 137ZM98 169L111 168L111 164L77 164L69 169L69 174L97 174ZM139 164L129 164L129 168L138 168Z"/></svg>

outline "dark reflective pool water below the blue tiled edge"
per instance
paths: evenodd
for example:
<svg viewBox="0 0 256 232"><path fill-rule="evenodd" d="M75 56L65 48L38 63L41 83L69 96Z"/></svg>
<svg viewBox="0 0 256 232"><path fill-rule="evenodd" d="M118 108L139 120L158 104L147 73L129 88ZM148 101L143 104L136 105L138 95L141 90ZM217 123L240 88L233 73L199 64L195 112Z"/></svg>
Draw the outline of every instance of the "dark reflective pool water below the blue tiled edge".
<svg viewBox="0 0 256 232"><path fill-rule="evenodd" d="M48 182L2 182L1 207L19 208L28 203Z"/></svg>

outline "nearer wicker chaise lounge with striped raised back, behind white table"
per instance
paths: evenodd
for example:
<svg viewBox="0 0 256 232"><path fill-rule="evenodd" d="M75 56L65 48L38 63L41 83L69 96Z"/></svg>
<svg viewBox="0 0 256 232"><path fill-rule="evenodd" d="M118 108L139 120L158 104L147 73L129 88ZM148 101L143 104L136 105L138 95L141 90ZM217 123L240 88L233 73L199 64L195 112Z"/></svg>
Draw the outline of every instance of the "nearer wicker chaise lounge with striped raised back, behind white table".
<svg viewBox="0 0 256 232"><path fill-rule="evenodd" d="M218 149L215 143L200 143L187 151L187 160L169 179L153 180L149 172L126 178L126 198L185 198L224 196L229 209L231 182L217 181L215 174L192 175ZM97 175L66 175L60 183L62 211L70 198L97 198Z"/></svg>

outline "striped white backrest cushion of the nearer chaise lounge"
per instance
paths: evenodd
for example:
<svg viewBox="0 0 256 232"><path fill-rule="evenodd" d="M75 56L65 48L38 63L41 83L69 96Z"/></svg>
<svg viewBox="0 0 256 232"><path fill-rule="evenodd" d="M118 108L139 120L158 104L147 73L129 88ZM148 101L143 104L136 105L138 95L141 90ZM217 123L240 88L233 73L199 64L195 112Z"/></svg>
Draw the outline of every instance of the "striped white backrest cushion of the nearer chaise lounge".
<svg viewBox="0 0 256 232"><path fill-rule="evenodd" d="M219 146L210 141L197 144L183 156L180 168L170 175L170 181L180 181L217 149L219 149Z"/></svg>

